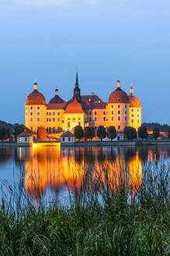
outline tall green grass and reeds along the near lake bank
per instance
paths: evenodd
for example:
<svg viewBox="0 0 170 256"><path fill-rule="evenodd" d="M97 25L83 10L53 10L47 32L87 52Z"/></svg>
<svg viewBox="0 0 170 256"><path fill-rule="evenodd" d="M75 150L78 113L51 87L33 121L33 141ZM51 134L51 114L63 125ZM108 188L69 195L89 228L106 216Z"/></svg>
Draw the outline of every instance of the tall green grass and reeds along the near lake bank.
<svg viewBox="0 0 170 256"><path fill-rule="evenodd" d="M105 167L90 189L88 172L79 188L75 177L69 207L35 208L21 180L1 204L0 255L169 255L169 167L145 172L136 189Z"/></svg>

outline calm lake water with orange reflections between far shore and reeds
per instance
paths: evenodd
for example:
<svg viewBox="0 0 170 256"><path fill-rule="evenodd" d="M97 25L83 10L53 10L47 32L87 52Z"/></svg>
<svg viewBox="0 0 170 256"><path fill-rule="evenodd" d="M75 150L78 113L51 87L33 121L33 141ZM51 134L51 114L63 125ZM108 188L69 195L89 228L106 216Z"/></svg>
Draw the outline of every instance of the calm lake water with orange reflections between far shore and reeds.
<svg viewBox="0 0 170 256"><path fill-rule="evenodd" d="M137 188L141 185L146 165L162 162L170 163L170 147L0 148L0 196L2 190L5 196L9 195L3 184L19 183L25 174L26 193L35 202L37 193L47 201L52 197L67 201L68 191L75 194L85 173L88 173L86 181L90 190L103 165L111 170L109 178L116 177L114 182L118 186L121 176L127 186Z"/></svg>

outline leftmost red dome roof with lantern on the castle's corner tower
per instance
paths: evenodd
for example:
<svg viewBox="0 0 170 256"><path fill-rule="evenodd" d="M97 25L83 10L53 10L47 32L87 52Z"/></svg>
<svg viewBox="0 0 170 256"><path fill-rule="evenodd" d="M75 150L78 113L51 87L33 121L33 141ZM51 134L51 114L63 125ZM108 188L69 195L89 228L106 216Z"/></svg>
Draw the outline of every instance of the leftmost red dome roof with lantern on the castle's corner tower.
<svg viewBox="0 0 170 256"><path fill-rule="evenodd" d="M37 84L34 83L34 90L26 97L26 105L43 105L46 104L46 100L38 90Z"/></svg>

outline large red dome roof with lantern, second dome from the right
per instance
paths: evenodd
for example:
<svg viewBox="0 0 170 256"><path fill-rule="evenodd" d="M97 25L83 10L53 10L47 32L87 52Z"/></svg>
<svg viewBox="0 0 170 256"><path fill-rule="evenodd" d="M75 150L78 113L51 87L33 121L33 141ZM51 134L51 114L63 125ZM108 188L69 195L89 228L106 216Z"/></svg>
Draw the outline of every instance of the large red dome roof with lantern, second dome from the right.
<svg viewBox="0 0 170 256"><path fill-rule="evenodd" d="M109 103L129 103L127 93L120 88L120 80L117 80L116 90L109 95Z"/></svg>

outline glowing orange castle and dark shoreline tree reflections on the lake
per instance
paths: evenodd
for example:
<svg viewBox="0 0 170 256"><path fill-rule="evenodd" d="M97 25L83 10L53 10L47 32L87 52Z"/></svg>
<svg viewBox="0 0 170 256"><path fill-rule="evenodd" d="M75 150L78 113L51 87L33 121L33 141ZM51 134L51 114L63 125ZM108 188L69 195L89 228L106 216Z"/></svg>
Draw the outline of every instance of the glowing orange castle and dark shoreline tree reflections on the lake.
<svg viewBox="0 0 170 256"><path fill-rule="evenodd" d="M97 177L105 182L103 166L109 169L109 180L116 187L125 183L126 187L137 190L141 186L144 163L158 162L169 158L168 148L17 148L16 158L25 162L26 191L35 200L37 194L43 197L47 189L54 191L56 197L61 190L78 192L82 180L88 189ZM114 179L113 179L114 178Z"/></svg>

